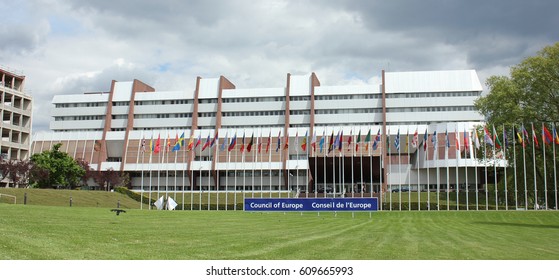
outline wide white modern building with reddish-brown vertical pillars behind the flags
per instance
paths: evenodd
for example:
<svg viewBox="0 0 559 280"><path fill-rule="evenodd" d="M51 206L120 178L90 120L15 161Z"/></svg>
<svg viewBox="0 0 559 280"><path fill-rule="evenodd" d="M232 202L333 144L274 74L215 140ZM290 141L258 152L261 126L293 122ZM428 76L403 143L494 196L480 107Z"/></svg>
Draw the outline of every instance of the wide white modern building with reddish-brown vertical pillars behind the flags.
<svg viewBox="0 0 559 280"><path fill-rule="evenodd" d="M128 173L135 191L319 197L473 186L464 141L483 120L473 107L481 92L474 70L383 71L380 84L348 86L287 74L284 87L249 89L198 77L194 89L165 92L112 81L108 92L54 96L52 131L34 135L32 153L62 143L96 170ZM458 173L468 175L450 182Z"/></svg>

